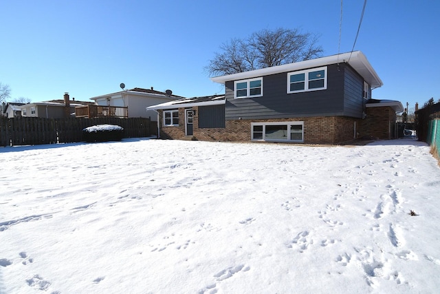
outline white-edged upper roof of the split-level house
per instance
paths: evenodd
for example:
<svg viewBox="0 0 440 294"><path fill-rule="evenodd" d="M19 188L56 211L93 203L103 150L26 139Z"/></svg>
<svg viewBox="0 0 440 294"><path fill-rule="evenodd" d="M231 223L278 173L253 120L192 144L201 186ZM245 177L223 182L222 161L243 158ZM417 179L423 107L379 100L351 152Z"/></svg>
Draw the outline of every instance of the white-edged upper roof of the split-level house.
<svg viewBox="0 0 440 294"><path fill-rule="evenodd" d="M254 78L257 76L267 76L270 74L279 74L281 72L292 72L296 70L306 70L308 68L320 67L324 65L331 65L336 63L348 63L358 72L364 80L371 85L371 87L381 87L384 85L381 79L366 59L366 56L360 51L342 53L321 57L318 59L311 59L307 61L299 61L296 63L288 63L284 65L277 65L273 67L266 67L260 70L251 70L249 72L239 72L237 74L228 74L225 76L215 76L211 81L215 83L225 83L227 81L237 81L245 78Z"/></svg>

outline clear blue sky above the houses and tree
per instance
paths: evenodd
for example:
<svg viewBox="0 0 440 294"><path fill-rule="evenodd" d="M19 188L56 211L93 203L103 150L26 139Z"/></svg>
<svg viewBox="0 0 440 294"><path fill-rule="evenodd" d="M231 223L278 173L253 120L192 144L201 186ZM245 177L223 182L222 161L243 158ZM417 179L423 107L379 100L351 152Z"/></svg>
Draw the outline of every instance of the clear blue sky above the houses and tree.
<svg viewBox="0 0 440 294"><path fill-rule="evenodd" d="M126 88L180 96L223 93L203 67L231 38L274 28L320 34L338 53L340 0L47 1L0 3L0 82L11 98L76 100ZM353 47L363 0L346 0L340 52ZM355 50L384 82L373 98L423 105L440 98L440 1L369 0Z"/></svg>

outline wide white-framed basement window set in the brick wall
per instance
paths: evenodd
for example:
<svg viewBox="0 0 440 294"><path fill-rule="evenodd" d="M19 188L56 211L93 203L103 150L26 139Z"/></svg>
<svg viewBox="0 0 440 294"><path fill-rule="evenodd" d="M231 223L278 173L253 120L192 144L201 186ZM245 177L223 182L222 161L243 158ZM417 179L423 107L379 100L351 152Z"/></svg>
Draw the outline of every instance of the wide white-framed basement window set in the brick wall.
<svg viewBox="0 0 440 294"><path fill-rule="evenodd" d="M304 142L304 122L251 123L253 141Z"/></svg>

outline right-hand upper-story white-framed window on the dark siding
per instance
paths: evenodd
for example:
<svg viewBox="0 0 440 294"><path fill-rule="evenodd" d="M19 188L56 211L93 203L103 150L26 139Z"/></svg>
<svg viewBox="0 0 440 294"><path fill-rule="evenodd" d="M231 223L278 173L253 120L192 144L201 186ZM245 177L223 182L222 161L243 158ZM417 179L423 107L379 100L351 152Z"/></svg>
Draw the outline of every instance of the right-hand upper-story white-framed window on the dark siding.
<svg viewBox="0 0 440 294"><path fill-rule="evenodd" d="M287 74L287 94L327 89L327 67Z"/></svg>

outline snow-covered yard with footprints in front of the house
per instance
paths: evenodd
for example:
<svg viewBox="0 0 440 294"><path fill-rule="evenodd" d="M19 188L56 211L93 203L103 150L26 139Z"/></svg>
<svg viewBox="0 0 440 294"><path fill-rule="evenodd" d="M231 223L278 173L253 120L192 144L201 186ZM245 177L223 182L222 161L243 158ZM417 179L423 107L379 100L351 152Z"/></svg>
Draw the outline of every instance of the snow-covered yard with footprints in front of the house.
<svg viewBox="0 0 440 294"><path fill-rule="evenodd" d="M133 139L0 166L0 293L440 289L440 169L416 140Z"/></svg>

